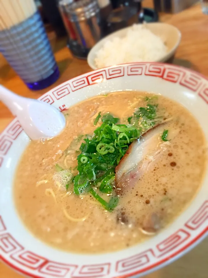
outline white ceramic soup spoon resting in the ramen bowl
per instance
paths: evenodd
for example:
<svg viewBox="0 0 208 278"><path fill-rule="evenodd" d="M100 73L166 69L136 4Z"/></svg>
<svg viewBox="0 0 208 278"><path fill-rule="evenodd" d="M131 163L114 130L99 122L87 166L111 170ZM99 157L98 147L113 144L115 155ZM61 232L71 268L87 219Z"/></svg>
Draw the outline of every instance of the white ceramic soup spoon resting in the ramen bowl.
<svg viewBox="0 0 208 278"><path fill-rule="evenodd" d="M40 100L18 96L0 85L0 100L16 116L25 133L32 139L52 138L65 127L64 115Z"/></svg>

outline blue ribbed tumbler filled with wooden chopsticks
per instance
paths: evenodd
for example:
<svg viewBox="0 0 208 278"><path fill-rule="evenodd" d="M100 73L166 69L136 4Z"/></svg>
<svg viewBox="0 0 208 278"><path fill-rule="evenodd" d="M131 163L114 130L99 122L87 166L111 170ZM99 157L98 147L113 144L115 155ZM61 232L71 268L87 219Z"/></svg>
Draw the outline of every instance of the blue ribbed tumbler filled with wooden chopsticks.
<svg viewBox="0 0 208 278"><path fill-rule="evenodd" d="M33 0L0 1L0 52L32 90L59 77L51 45Z"/></svg>

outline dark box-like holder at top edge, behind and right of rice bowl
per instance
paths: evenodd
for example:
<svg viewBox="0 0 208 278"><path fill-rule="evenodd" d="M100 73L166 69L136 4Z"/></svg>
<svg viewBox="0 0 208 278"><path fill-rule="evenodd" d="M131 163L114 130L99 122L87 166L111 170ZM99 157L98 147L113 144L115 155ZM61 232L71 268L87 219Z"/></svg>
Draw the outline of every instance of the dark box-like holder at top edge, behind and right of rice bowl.
<svg viewBox="0 0 208 278"><path fill-rule="evenodd" d="M157 12L177 13L192 6L198 0L154 0Z"/></svg>

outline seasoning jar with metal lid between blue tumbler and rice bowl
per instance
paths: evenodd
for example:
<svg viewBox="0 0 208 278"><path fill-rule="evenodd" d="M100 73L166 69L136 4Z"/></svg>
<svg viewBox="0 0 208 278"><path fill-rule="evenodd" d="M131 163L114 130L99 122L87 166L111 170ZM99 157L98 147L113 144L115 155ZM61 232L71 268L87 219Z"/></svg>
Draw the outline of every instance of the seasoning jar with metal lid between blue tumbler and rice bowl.
<svg viewBox="0 0 208 278"><path fill-rule="evenodd" d="M60 1L64 17L68 19L68 47L78 58L87 58L88 52L101 39L101 17L97 0ZM62 16L63 17L63 16ZM65 24L66 25L66 24Z"/></svg>

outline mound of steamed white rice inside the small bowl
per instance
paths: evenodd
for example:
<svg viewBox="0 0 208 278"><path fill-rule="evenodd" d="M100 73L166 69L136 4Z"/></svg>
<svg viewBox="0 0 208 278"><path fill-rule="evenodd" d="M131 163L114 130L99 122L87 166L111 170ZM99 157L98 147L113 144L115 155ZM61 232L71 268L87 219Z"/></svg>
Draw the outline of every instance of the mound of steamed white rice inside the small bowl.
<svg viewBox="0 0 208 278"><path fill-rule="evenodd" d="M98 68L122 63L157 61L167 52L159 36L145 25L135 24L123 38L114 37L104 43L97 52L95 64Z"/></svg>

